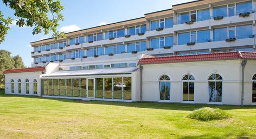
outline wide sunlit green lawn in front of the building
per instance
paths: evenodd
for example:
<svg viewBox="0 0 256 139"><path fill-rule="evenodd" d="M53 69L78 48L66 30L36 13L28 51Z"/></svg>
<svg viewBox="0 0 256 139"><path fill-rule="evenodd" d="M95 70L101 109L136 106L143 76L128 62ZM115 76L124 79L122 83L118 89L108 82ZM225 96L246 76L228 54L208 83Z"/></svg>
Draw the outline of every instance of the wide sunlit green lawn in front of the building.
<svg viewBox="0 0 256 139"><path fill-rule="evenodd" d="M219 107L231 119L186 118L207 105L47 99L0 92L0 138L254 138L256 106Z"/></svg>

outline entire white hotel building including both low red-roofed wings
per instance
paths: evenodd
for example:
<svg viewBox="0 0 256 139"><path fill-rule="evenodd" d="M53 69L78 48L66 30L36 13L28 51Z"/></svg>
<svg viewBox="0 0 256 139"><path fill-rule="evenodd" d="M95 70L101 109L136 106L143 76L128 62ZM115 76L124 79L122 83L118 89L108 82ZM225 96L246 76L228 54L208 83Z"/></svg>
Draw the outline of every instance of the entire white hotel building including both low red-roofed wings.
<svg viewBox="0 0 256 139"><path fill-rule="evenodd" d="M5 93L106 101L256 104L256 2L204 0L31 43Z"/></svg>

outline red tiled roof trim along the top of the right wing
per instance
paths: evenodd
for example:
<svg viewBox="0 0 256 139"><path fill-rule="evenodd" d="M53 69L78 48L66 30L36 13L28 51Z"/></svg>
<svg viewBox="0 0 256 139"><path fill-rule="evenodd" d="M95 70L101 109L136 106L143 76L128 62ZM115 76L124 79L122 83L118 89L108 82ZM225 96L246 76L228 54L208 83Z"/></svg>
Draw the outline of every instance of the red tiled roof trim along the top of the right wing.
<svg viewBox="0 0 256 139"><path fill-rule="evenodd" d="M220 52L191 55L174 55L167 57L142 58L138 65L144 64L162 64L173 62L192 62L192 61L209 61L209 60L230 60L230 59L256 59L256 52Z"/></svg>

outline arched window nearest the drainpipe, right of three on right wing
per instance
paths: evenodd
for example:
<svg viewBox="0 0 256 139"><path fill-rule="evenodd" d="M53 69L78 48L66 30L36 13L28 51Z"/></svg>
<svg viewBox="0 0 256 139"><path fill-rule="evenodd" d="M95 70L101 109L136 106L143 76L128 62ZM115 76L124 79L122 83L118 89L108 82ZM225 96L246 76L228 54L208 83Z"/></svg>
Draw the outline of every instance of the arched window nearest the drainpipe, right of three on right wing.
<svg viewBox="0 0 256 139"><path fill-rule="evenodd" d="M222 77L219 74L210 75L209 79L209 102L221 102L222 100Z"/></svg>

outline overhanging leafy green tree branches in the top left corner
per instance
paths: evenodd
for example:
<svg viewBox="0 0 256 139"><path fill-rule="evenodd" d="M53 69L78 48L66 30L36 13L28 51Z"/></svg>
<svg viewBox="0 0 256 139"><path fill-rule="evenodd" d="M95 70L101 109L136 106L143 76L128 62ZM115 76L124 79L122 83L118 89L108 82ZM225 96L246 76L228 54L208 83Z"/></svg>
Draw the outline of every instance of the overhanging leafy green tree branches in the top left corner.
<svg viewBox="0 0 256 139"><path fill-rule="evenodd" d="M34 26L32 34L53 32L52 37L64 37L64 32L59 32L57 26L63 20L61 11L64 9L60 0L3 0L5 6L15 11L17 17L16 25ZM50 15L50 16L48 16ZM4 18L0 11L0 43L4 41L5 35L10 29L11 17Z"/></svg>

